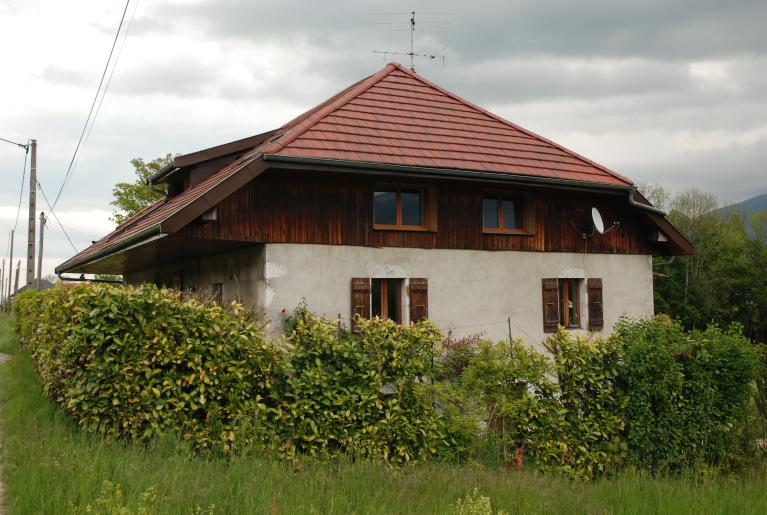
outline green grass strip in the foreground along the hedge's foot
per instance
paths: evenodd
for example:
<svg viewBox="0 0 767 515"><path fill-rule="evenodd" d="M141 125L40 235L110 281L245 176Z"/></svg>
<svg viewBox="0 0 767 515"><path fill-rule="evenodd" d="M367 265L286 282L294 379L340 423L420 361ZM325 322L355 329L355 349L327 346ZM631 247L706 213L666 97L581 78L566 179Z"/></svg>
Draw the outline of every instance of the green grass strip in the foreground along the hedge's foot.
<svg viewBox="0 0 767 515"><path fill-rule="evenodd" d="M509 513L765 513L767 476L637 475L573 484L532 472L426 464L291 465L258 456L202 459L174 438L151 446L84 434L41 391L0 317L6 507L27 513L451 513L475 488ZM142 511L143 510L143 511Z"/></svg>

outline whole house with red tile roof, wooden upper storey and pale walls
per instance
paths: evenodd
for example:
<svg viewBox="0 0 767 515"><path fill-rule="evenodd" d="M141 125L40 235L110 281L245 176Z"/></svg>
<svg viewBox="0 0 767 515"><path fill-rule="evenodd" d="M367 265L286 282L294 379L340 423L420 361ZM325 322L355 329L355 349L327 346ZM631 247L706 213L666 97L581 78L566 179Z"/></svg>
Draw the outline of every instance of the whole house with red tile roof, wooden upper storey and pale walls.
<svg viewBox="0 0 767 515"><path fill-rule="evenodd" d="M630 179L396 63L151 182L167 198L56 272L249 300L275 331L305 300L494 339L609 332L653 313L652 256L692 251Z"/></svg>

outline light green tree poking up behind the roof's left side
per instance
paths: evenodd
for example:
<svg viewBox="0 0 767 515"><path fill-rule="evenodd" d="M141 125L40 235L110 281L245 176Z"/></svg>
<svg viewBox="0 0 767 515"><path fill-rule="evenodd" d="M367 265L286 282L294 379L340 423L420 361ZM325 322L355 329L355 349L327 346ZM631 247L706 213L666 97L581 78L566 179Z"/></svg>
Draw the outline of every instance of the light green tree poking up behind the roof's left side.
<svg viewBox="0 0 767 515"><path fill-rule="evenodd" d="M164 193L157 191L157 189L164 190L165 185L152 189L149 186L149 178L170 164L173 159L173 154L165 154L163 157L158 157L149 162L145 162L140 157L131 159L136 181L118 182L115 185L112 190L114 200L110 203L113 207L110 219L121 224L156 200L162 198Z"/></svg>

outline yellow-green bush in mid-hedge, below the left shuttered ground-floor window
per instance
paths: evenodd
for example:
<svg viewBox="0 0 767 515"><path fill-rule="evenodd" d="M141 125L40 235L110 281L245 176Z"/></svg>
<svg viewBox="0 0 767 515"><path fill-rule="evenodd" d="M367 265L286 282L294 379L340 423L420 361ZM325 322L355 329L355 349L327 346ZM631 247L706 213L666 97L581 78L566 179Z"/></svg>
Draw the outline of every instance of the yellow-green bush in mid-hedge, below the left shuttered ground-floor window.
<svg viewBox="0 0 767 515"><path fill-rule="evenodd" d="M280 395L288 453L405 463L454 446L428 387L442 337L433 324L357 319L351 333L305 309L290 320Z"/></svg>

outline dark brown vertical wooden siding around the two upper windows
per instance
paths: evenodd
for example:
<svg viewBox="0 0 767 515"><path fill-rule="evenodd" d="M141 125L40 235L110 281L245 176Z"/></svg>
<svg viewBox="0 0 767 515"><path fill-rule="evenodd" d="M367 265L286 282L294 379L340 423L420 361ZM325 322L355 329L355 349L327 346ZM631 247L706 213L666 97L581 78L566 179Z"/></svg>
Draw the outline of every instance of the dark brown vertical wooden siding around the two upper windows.
<svg viewBox="0 0 767 515"><path fill-rule="evenodd" d="M434 231L373 229L376 185L433 186L437 202ZM482 198L486 192L524 193L532 203L531 235L483 234ZM621 223L609 234L595 234L587 245L579 230L591 231L591 207L605 225ZM630 214L625 196L544 188L499 188L467 181L420 181L341 173L271 170L225 199L215 222L196 221L179 236L272 243L314 243L376 247L415 247L548 252L652 254L647 227Z"/></svg>

